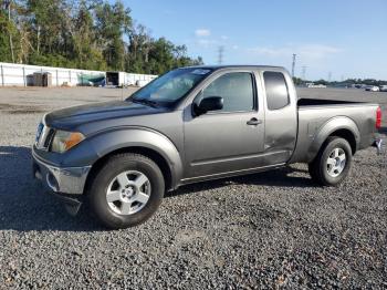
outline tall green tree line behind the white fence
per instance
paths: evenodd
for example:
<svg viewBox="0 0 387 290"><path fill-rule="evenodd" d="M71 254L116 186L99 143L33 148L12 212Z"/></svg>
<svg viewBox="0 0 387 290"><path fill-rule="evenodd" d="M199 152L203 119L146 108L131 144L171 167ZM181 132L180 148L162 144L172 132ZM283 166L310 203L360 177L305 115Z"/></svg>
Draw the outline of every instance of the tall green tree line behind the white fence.
<svg viewBox="0 0 387 290"><path fill-rule="evenodd" d="M0 61L160 74L202 64L153 38L122 1L0 0Z"/></svg>

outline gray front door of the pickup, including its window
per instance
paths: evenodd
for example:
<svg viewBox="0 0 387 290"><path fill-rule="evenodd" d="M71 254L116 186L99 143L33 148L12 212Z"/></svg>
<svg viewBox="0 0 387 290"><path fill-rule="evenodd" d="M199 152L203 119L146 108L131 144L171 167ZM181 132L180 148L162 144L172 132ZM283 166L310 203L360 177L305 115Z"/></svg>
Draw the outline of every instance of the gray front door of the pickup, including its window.
<svg viewBox="0 0 387 290"><path fill-rule="evenodd" d="M185 178L211 176L260 166L264 118L259 107L255 74L218 73L196 95L223 97L223 110L192 116L185 110Z"/></svg>

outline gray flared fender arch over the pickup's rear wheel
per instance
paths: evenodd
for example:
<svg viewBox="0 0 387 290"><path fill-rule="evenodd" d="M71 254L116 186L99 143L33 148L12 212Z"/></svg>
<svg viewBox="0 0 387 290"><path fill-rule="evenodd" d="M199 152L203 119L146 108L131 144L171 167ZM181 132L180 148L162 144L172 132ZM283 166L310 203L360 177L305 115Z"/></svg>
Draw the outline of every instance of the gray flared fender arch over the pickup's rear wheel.
<svg viewBox="0 0 387 290"><path fill-rule="evenodd" d="M314 136L312 144L307 151L307 159L311 162L314 159L314 157L317 155L321 146L324 144L326 138L332 135L334 132L339 130L347 130L349 131L356 141L356 148L358 147L358 144L360 142L360 132L356 125L356 123L346 116L337 116L330 118L327 122L325 122L321 128L318 130L317 134Z"/></svg>

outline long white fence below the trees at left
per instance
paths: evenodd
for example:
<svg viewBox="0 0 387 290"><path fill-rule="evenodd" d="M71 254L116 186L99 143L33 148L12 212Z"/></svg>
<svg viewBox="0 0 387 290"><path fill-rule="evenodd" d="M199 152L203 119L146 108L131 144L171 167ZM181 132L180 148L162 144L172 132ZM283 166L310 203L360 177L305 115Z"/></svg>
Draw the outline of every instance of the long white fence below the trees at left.
<svg viewBox="0 0 387 290"><path fill-rule="evenodd" d="M85 85L91 79L105 79L106 72L0 62L0 86L33 85L34 73L50 73L51 85ZM144 85L157 75L118 72L118 85Z"/></svg>

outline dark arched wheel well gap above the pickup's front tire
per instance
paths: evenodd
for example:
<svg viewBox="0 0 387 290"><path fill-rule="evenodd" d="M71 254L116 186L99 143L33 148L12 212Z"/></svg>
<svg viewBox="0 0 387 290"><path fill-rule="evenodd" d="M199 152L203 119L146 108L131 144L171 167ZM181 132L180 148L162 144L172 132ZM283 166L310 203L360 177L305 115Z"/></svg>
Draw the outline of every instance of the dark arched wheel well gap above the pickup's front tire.
<svg viewBox="0 0 387 290"><path fill-rule="evenodd" d="M109 157L113 155L122 154L122 153L136 153L144 155L151 160L154 160L159 167L164 176L166 190L171 189L171 183L172 183L172 175L171 170L169 168L168 162L156 151L146 148L146 147L126 147L126 148L119 148L116 151L113 151L105 156L101 157L97 162L95 162L92 166L92 169L88 173L86 184L85 184L85 191L90 188L94 176L98 173L98 170L104 166L104 164L107 162Z"/></svg>

